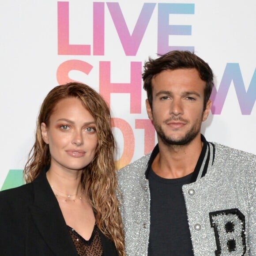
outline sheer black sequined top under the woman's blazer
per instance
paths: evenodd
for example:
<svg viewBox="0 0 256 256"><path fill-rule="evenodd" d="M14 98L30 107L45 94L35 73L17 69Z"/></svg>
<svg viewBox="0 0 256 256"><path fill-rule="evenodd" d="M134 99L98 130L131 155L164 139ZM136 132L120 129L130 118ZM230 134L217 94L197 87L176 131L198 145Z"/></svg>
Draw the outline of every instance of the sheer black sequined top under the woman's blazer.
<svg viewBox="0 0 256 256"><path fill-rule="evenodd" d="M69 233L74 242L78 256L102 256L102 242L98 227L95 225L90 239L87 241L74 229L68 226Z"/></svg>

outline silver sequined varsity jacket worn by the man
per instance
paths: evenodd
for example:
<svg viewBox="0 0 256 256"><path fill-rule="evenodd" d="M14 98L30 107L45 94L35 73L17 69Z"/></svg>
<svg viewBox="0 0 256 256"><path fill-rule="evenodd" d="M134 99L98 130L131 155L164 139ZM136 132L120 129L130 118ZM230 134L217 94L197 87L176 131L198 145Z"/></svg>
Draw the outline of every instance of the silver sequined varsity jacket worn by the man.
<svg viewBox="0 0 256 256"><path fill-rule="evenodd" d="M182 190L195 256L256 256L256 155L218 143L204 177ZM151 153L117 171L127 256L146 256Z"/></svg>

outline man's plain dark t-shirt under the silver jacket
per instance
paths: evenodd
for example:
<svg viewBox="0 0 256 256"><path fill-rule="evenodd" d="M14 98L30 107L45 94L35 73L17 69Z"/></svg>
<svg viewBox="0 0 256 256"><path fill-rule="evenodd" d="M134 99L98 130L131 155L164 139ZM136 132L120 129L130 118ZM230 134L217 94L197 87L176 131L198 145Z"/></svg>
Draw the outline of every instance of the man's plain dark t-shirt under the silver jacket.
<svg viewBox="0 0 256 256"><path fill-rule="evenodd" d="M192 173L177 179L159 177L150 168L151 194L148 256L193 256L182 185Z"/></svg>

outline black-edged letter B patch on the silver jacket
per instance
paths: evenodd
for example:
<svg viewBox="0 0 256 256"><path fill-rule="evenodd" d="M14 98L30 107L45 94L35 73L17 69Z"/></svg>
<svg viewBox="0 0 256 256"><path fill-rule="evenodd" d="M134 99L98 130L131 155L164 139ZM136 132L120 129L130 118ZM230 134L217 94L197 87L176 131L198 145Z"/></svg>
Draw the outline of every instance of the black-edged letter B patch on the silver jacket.
<svg viewBox="0 0 256 256"><path fill-rule="evenodd" d="M229 209L210 212L209 215L217 245L215 255L245 255L245 216L241 211Z"/></svg>

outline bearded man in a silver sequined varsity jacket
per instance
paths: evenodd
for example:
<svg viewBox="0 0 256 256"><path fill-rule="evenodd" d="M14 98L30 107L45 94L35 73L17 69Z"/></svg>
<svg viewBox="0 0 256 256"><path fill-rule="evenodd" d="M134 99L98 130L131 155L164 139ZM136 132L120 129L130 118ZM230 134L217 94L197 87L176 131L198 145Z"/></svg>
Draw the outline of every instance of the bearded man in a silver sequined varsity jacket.
<svg viewBox="0 0 256 256"><path fill-rule="evenodd" d="M256 156L200 134L213 73L188 51L145 63L154 150L117 172L128 256L256 255Z"/></svg>

